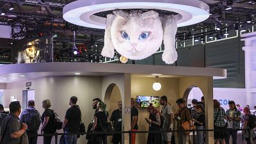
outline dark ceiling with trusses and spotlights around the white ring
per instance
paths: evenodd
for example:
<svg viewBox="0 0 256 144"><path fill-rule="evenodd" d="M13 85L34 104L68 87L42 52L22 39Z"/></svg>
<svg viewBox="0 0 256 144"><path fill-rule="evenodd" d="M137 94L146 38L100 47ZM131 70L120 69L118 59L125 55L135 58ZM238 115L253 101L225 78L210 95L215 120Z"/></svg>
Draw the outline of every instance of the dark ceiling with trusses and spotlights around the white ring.
<svg viewBox="0 0 256 144"><path fill-rule="evenodd" d="M13 39L16 38L35 38L42 35L54 35L54 47L56 54L70 49L74 30L76 33L76 42L84 44L94 49L90 52L100 52L103 47L104 30L82 28L65 22L62 18L62 9L73 0L0 0L0 25L12 26L12 28L20 28L20 33L13 32ZM187 40L189 38L200 37L202 35L223 34L227 30L247 28L254 25L256 20L256 1L252 0L202 0L209 4L211 8L211 16L209 19L199 24L186 26L178 29L177 40ZM13 10L10 8L13 7ZM227 10L227 7L232 8ZM158 11L160 14L166 14L165 11ZM111 12L96 13L95 15L106 16ZM167 12L168 13L168 12ZM170 14L170 13L168 13ZM252 22L248 23L247 21ZM221 26L220 31L216 30L216 24ZM207 32L202 32L207 29ZM0 43L2 44L3 41ZM8 42L11 44L12 42ZM96 46L95 46L96 45ZM8 46L7 46L8 47ZM95 50L95 47L97 49ZM0 56L6 54L8 48L0 46ZM9 54L9 53L8 53ZM56 56L60 57L60 56ZM68 57L65 56L65 57ZM1 58L0 58L1 59ZM1 60L0 60L1 61Z"/></svg>

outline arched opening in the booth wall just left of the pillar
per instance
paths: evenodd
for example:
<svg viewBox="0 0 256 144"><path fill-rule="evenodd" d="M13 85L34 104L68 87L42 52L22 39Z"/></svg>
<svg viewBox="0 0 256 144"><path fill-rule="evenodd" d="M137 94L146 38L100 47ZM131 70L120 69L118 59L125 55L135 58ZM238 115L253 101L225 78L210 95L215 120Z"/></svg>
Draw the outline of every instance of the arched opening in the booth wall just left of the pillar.
<svg viewBox="0 0 256 144"><path fill-rule="evenodd" d="M118 102L122 100L122 96L118 86L115 83L109 84L106 93L104 95L104 102L107 105L107 111L109 118L115 109L118 109ZM112 136L108 136L108 143L110 144Z"/></svg>

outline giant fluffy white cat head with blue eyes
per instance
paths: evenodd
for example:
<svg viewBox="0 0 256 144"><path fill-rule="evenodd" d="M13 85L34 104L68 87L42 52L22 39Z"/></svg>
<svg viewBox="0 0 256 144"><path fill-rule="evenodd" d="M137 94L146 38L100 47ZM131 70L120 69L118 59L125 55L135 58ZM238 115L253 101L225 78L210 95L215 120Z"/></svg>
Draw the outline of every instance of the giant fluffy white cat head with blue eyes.
<svg viewBox="0 0 256 144"><path fill-rule="evenodd" d="M111 39L116 51L132 60L154 54L163 42L163 28L158 13L140 11L115 12Z"/></svg>

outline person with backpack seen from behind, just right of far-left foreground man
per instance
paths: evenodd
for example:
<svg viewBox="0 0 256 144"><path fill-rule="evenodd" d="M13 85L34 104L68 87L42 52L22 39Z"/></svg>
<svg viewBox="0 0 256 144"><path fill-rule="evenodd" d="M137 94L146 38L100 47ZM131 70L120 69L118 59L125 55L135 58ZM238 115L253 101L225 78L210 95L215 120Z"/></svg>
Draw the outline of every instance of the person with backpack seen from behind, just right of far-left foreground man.
<svg viewBox="0 0 256 144"><path fill-rule="evenodd" d="M35 101L28 101L28 109L22 111L20 115L20 122L28 125L27 134L29 144L37 143L38 129L41 124L41 115L39 111L35 109Z"/></svg>

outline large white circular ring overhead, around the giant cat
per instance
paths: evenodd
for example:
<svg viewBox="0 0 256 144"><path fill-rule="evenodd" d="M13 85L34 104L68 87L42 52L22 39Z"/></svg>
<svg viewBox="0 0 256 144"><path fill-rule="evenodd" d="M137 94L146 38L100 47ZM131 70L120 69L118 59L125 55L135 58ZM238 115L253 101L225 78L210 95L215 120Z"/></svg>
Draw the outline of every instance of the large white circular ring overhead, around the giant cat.
<svg viewBox="0 0 256 144"><path fill-rule="evenodd" d="M179 13L176 15L178 27L197 24L209 17L209 6L198 0L79 0L63 8L63 19L78 26L105 29L106 18L93 14L118 9L154 9Z"/></svg>

